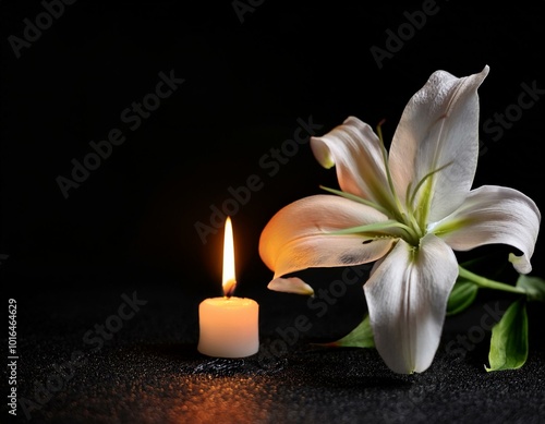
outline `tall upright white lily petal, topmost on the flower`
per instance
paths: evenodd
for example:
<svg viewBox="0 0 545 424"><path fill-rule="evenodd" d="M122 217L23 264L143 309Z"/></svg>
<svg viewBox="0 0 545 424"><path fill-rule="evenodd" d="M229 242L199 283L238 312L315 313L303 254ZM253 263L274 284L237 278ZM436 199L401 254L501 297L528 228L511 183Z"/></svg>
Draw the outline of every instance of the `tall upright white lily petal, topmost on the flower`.
<svg viewBox="0 0 545 424"><path fill-rule="evenodd" d="M452 213L468 195L479 157L479 96L488 66L465 77L437 71L407 104L393 134L389 166L401 199L429 172L429 221ZM443 168L444 167L444 168ZM425 186L425 185L424 185ZM433 193L433 195L432 195Z"/></svg>

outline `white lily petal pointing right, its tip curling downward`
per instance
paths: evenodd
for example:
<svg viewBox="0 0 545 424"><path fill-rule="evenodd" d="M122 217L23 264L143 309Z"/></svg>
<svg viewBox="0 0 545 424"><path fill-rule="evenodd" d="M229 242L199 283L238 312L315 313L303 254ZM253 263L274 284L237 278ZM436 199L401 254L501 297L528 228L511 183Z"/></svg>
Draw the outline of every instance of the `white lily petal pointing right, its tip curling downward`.
<svg viewBox="0 0 545 424"><path fill-rule="evenodd" d="M540 209L526 195L514 189L483 185L472 190L460 208L431 231L456 251L493 243L511 245L522 252L511 257L514 269L528 274L540 222Z"/></svg>

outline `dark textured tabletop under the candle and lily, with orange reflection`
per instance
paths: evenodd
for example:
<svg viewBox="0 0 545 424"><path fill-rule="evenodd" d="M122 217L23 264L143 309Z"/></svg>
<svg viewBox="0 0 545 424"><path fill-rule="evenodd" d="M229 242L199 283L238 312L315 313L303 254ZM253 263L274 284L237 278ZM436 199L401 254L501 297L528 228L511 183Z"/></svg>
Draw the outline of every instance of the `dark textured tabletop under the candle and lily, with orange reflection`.
<svg viewBox="0 0 545 424"><path fill-rule="evenodd" d="M120 294L134 291L147 302L141 311L104 346L86 342L89 329L116 314L123 303ZM331 316L314 320L312 331L299 334L296 342L282 337L278 328L293 325L294 316L311 317L310 310L286 302L262 306L259 352L229 360L197 352L196 318L187 311L195 300L184 299L180 290L128 286L107 293L69 293L62 302L46 295L41 305L33 303L32 318L29 303L20 302L19 395L20 401L43 402L28 408L34 423L545 422L540 308L529 310L531 350L520 370L484 370L489 335L480 337L475 328L486 311L501 311L506 304L488 300L447 318L431 368L398 375L374 349L313 343L342 327ZM457 337L464 337L465 344L456 342ZM62 374L60 388L51 390ZM50 398L44 398L37 388L48 385ZM19 413L20 422L26 422L21 404Z"/></svg>

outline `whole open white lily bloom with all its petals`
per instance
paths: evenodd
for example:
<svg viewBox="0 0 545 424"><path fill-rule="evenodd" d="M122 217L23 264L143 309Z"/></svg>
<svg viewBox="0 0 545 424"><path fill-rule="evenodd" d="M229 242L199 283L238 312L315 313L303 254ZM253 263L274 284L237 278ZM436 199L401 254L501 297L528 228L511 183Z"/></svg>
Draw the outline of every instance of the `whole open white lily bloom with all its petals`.
<svg viewBox="0 0 545 424"><path fill-rule="evenodd" d="M516 249L521 274L540 229L535 203L517 190L472 190L479 158L477 88L488 74L437 71L410 99L389 154L370 125L348 118L312 137L316 159L336 167L341 191L296 201L264 228L268 288L312 294L290 274L375 262L364 284L375 346L397 373L423 372L439 346L458 277L455 251L493 243Z"/></svg>

